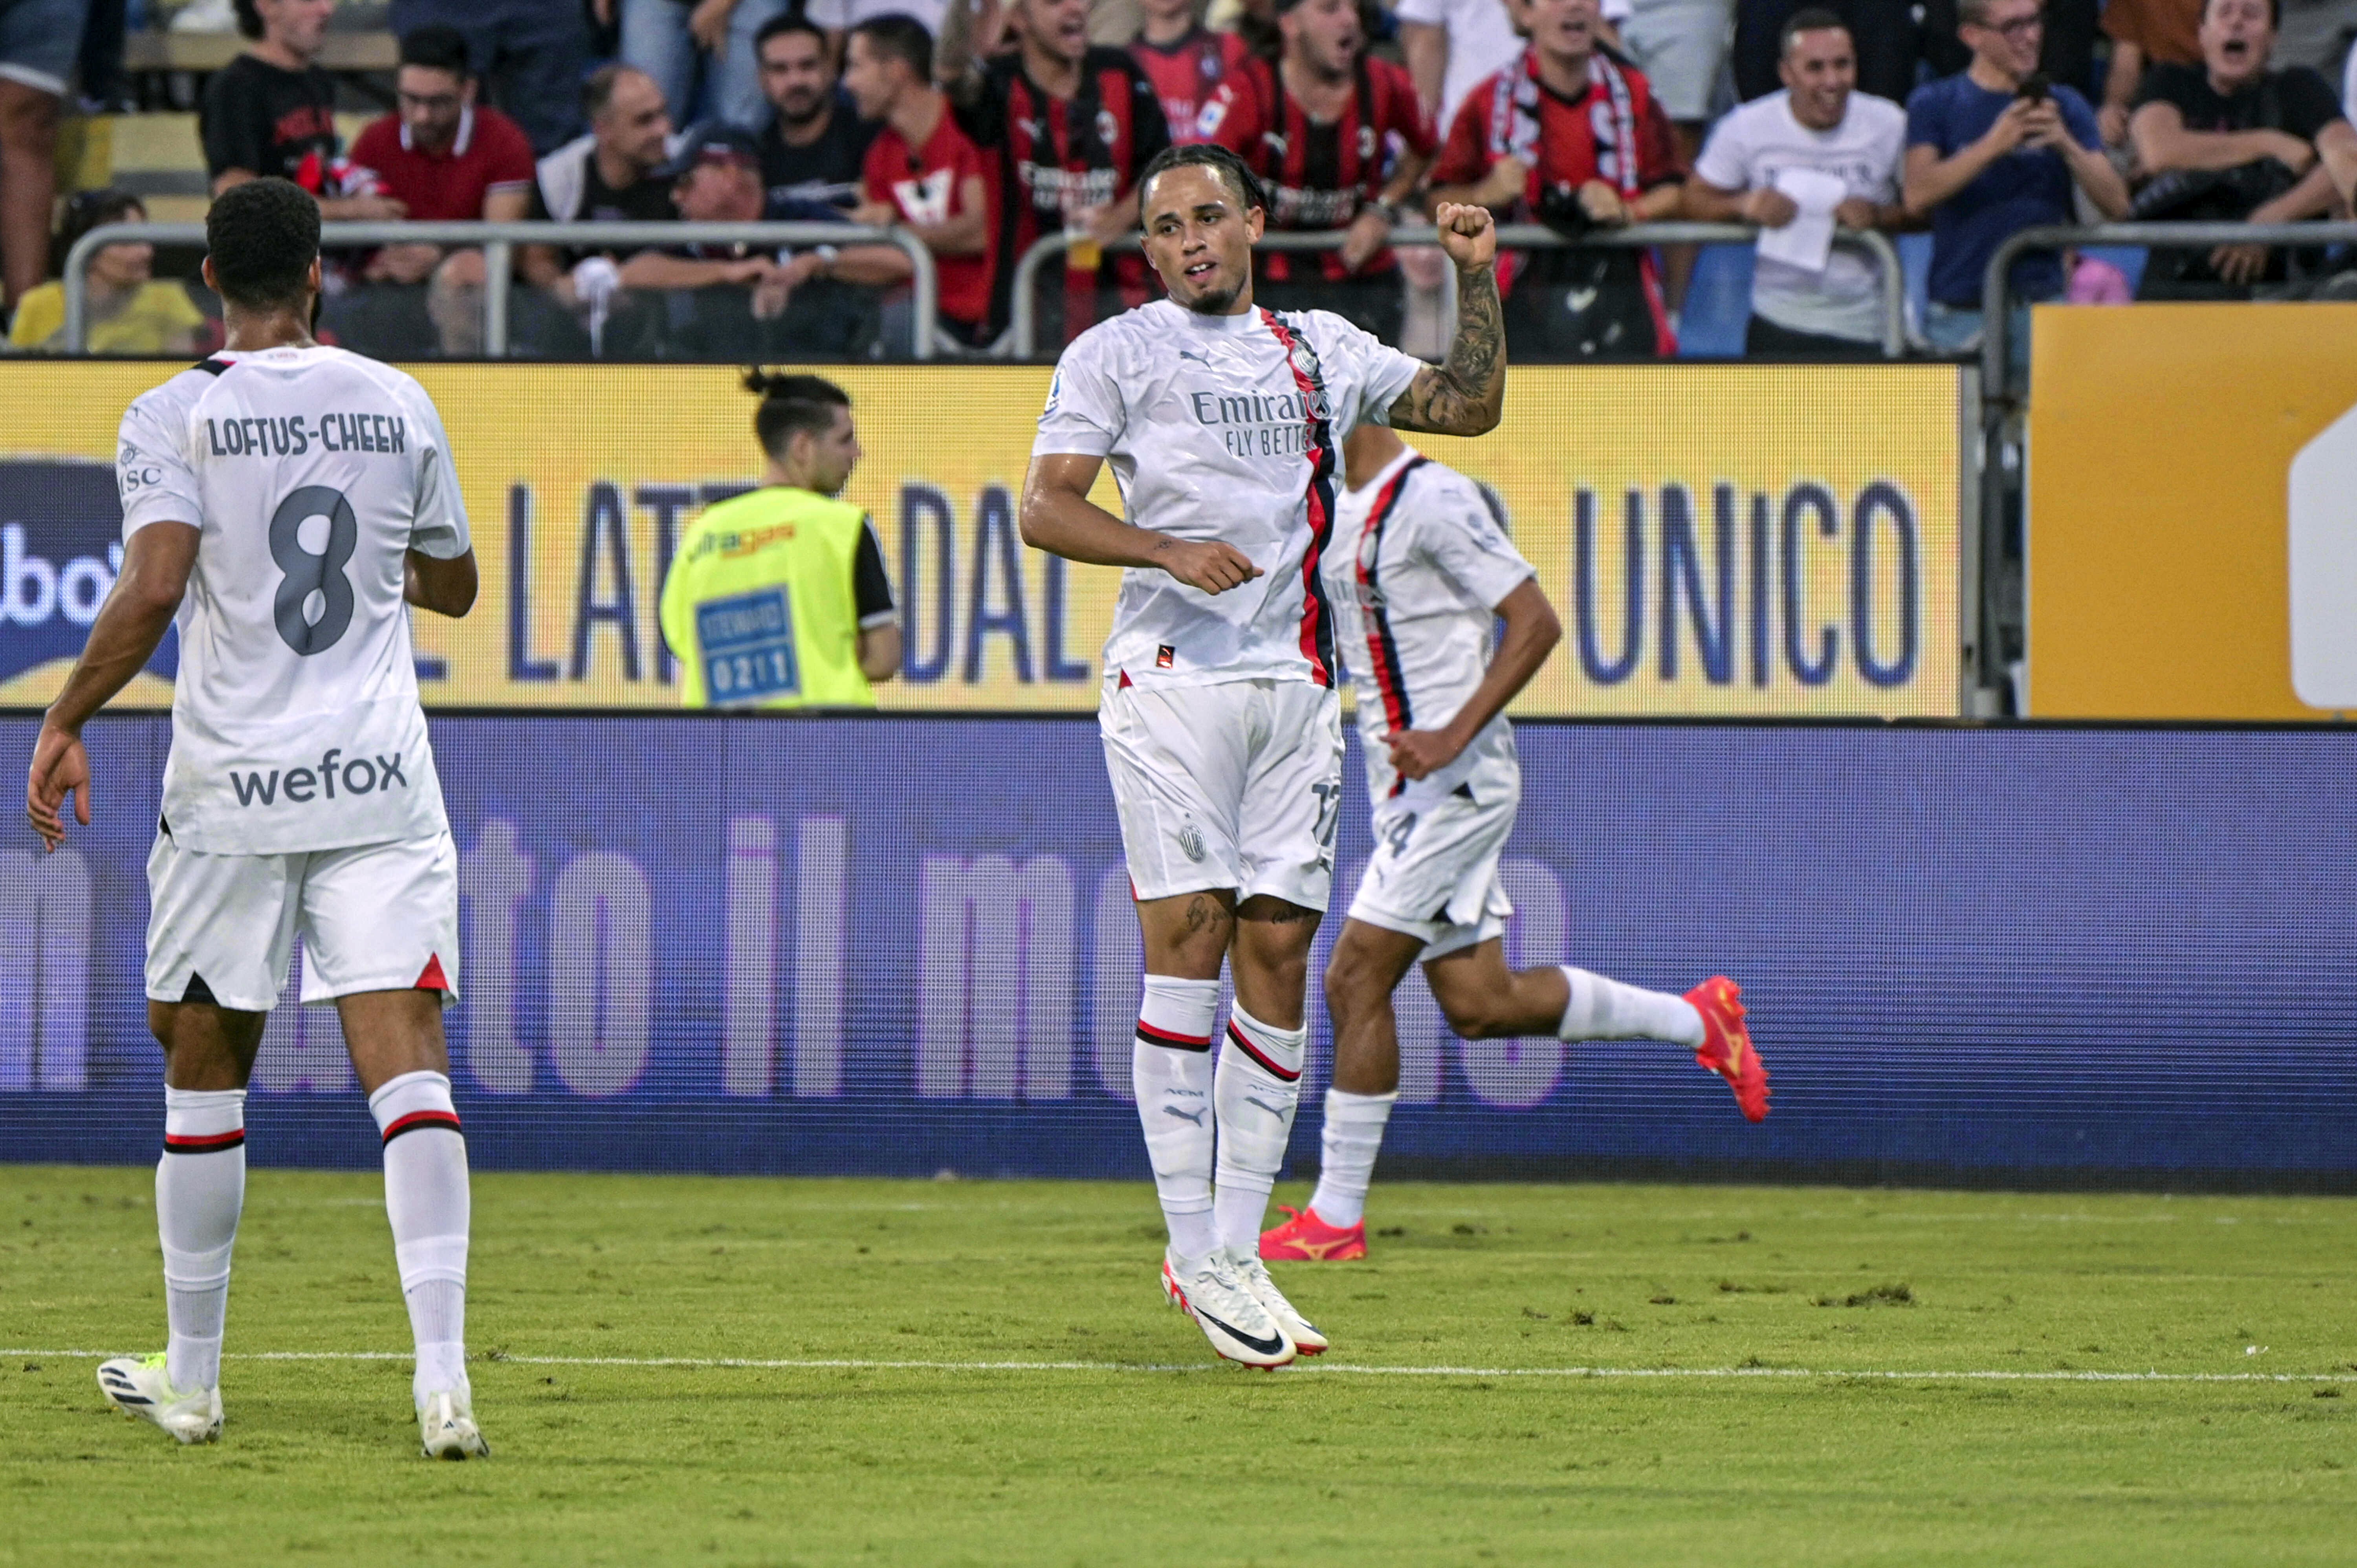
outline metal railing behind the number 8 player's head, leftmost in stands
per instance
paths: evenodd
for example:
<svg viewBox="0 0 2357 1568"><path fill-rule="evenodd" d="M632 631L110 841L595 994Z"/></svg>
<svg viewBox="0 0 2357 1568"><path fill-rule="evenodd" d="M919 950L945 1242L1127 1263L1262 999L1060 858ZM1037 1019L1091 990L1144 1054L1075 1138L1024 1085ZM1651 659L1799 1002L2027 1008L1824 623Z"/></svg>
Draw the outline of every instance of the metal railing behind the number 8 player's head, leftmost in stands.
<svg viewBox="0 0 2357 1568"><path fill-rule="evenodd" d="M90 351L90 257L104 245L203 245L203 224L106 224L66 252L66 351ZM483 354L507 358L507 290L516 245L893 245L910 264L910 356L933 358L933 318L940 299L933 252L907 229L865 224L321 224L321 248L453 245L483 250Z"/></svg>

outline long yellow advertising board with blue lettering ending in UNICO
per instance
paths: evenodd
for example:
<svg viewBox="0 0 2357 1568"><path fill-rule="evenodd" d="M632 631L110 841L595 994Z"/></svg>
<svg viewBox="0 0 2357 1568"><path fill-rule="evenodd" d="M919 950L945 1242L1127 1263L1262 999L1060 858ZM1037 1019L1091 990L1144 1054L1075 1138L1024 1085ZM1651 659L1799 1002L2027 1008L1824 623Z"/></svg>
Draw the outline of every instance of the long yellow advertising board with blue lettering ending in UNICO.
<svg viewBox="0 0 2357 1568"><path fill-rule="evenodd" d="M115 422L170 365L9 363L0 703L47 700L111 582ZM417 615L438 707L669 707L662 573L759 481L754 401L705 365L417 365L483 568ZM1016 495L1049 370L846 365L903 608L898 710L1094 710L1120 573L1025 549ZM1954 714L1959 370L1563 365L1506 422L1426 450L1483 481L1565 622L1523 714ZM1117 507L1110 476L1098 500ZM71 578L71 582L68 582ZM1351 648L1343 648L1348 663ZM160 700L160 679L139 693Z"/></svg>

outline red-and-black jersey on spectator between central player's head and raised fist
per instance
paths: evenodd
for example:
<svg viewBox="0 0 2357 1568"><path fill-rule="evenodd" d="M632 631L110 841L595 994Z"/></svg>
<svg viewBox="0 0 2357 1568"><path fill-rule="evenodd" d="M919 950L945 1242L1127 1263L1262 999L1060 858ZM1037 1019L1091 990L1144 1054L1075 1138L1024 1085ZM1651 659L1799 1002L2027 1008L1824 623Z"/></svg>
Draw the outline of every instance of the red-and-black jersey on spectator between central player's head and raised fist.
<svg viewBox="0 0 2357 1568"><path fill-rule="evenodd" d="M1388 59L1360 59L1341 118L1313 120L1266 59L1249 59L1211 94L1202 134L1233 149L1268 186L1270 229L1346 229L1381 198L1400 158L1433 156L1433 123L1407 71ZM1395 266L1388 250L1367 257L1358 276ZM1261 276L1299 281L1353 276L1336 252L1263 255Z"/></svg>

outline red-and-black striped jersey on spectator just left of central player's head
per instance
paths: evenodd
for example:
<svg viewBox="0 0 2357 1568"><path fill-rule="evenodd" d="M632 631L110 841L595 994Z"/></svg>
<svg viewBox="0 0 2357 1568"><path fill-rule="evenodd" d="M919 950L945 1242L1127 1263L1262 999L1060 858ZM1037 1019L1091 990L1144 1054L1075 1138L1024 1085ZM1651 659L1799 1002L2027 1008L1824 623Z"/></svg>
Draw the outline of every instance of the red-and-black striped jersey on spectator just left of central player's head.
<svg viewBox="0 0 2357 1568"><path fill-rule="evenodd" d="M1063 231L1065 215L1101 207L1127 193L1146 163L1169 146L1162 99L1124 50L1091 47L1080 61L1080 90L1058 99L1023 71L1023 57L999 54L983 66L983 85L962 104L957 123L997 160L999 245L990 321L1004 325L1014 299L1016 262L1039 236ZM1124 304L1146 302L1138 257L1105 257L1096 274L1070 274L1065 318L1077 335L1094 314L1096 288L1120 288ZM1080 307L1080 309L1075 309Z"/></svg>

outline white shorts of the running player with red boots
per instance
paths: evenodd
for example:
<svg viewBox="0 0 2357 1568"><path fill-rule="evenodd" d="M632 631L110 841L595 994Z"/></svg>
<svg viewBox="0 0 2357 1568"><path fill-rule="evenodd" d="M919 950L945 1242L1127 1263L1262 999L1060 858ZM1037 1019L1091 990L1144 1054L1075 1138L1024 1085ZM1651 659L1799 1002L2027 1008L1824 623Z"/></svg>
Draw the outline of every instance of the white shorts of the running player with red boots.
<svg viewBox="0 0 2357 1568"><path fill-rule="evenodd" d="M1497 861L1520 809L1523 766L1511 738L1450 790L1412 783L1374 802L1374 856L1351 920L1414 936L1424 943L1417 962L1426 964L1504 936L1513 903Z"/></svg>

